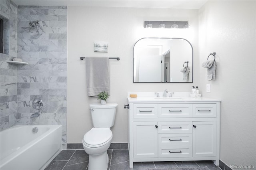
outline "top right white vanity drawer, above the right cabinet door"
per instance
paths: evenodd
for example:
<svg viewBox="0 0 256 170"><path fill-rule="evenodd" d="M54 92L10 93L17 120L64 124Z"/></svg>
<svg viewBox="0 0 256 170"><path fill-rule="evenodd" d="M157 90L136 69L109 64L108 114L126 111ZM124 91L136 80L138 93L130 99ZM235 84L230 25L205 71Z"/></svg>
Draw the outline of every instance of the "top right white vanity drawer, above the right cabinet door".
<svg viewBox="0 0 256 170"><path fill-rule="evenodd" d="M216 117L216 104L194 104L193 117Z"/></svg>

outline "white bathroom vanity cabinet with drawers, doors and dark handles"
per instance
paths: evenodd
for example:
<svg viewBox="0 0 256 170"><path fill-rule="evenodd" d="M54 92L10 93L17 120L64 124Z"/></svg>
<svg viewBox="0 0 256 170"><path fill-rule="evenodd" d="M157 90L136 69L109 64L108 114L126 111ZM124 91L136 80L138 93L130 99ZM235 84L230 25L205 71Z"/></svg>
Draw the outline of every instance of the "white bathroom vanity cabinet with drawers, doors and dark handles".
<svg viewBox="0 0 256 170"><path fill-rule="evenodd" d="M129 101L129 156L133 162L213 160L219 164L220 101Z"/></svg>

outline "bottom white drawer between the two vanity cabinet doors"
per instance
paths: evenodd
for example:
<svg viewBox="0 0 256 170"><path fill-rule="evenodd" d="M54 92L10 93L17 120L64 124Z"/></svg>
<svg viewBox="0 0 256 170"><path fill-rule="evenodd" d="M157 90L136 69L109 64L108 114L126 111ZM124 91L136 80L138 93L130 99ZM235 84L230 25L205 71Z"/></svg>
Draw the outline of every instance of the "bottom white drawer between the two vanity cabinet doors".
<svg viewBox="0 0 256 170"><path fill-rule="evenodd" d="M192 145L159 147L158 157L159 158L192 157Z"/></svg>

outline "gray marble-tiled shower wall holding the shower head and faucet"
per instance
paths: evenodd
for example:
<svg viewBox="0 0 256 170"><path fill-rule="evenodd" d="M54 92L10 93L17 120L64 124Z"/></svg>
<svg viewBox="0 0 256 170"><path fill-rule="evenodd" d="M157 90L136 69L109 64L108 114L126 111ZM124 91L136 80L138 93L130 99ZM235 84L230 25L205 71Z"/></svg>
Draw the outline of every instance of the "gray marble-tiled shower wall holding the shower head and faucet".
<svg viewBox="0 0 256 170"><path fill-rule="evenodd" d="M29 21L39 20L32 27ZM17 124L62 125L66 148L67 7L18 6L18 58L28 62L17 71ZM40 110L32 107L41 99ZM38 112L40 116L30 119Z"/></svg>

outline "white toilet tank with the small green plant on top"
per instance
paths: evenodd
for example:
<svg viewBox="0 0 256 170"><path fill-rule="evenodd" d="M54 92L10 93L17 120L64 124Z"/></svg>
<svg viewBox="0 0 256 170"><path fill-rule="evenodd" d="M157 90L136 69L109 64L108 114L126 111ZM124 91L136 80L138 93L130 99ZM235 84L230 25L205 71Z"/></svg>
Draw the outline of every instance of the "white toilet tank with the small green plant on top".
<svg viewBox="0 0 256 170"><path fill-rule="evenodd" d="M93 127L114 126L117 105L116 103L107 103L106 105L100 103L90 104Z"/></svg>

